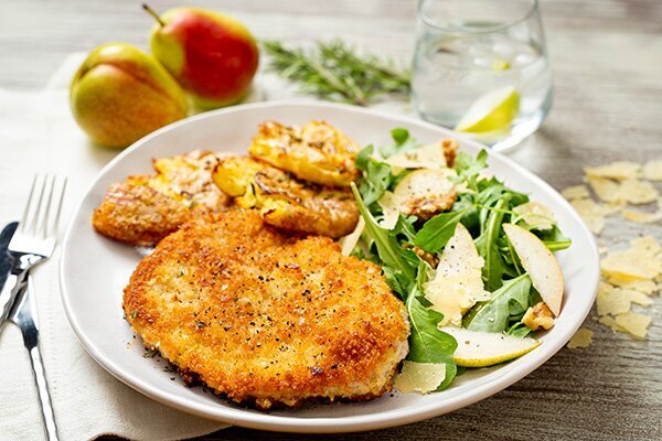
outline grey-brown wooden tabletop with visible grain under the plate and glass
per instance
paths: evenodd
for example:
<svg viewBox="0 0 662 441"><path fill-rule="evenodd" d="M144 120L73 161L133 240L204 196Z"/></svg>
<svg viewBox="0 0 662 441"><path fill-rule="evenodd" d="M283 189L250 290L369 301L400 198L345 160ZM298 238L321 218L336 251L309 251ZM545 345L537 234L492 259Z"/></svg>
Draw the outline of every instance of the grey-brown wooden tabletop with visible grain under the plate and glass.
<svg viewBox="0 0 662 441"><path fill-rule="evenodd" d="M158 10L175 1L152 2ZM361 47L410 56L415 2L396 0L197 1L231 12L258 37L306 41L342 36ZM616 159L662 159L662 2L543 0L555 97L543 128L512 154L557 189L581 168ZM106 41L146 46L151 21L136 1L3 0L0 87L39 89L71 52ZM601 244L623 244L658 226L608 222ZM428 421L383 431L297 435L241 428L206 440L660 440L662 320L633 341L587 320L586 349L562 349L509 389Z"/></svg>

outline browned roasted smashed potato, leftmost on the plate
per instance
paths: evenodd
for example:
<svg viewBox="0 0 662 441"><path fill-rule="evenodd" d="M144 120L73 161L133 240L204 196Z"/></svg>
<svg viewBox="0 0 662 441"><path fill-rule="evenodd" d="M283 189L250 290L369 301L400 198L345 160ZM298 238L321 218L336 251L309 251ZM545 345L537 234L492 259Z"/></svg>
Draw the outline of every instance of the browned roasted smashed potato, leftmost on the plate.
<svg viewBox="0 0 662 441"><path fill-rule="evenodd" d="M108 189L92 224L104 236L149 246L196 215L226 209L231 198L212 181L222 158L195 150L154 160L154 175L130 176Z"/></svg>

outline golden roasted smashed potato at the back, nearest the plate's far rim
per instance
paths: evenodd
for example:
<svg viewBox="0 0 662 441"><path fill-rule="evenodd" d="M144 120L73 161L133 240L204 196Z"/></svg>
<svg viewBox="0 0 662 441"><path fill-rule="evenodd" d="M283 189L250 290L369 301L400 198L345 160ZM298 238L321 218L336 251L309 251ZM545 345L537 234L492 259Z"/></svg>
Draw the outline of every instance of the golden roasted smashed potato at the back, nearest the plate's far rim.
<svg viewBox="0 0 662 441"><path fill-rule="evenodd" d="M349 186L354 181L357 151L354 141L324 121L302 127L265 122L248 149L252 157L298 179L329 186Z"/></svg>

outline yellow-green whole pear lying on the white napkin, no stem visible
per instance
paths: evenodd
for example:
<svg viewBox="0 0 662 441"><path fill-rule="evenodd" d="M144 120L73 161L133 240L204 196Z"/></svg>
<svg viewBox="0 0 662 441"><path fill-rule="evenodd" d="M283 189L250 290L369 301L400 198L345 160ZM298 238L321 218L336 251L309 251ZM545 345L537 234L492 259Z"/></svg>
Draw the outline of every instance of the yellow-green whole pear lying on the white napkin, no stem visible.
<svg viewBox="0 0 662 441"><path fill-rule="evenodd" d="M151 55L127 43L89 53L70 90L78 126L100 146L124 148L188 114L186 96Z"/></svg>

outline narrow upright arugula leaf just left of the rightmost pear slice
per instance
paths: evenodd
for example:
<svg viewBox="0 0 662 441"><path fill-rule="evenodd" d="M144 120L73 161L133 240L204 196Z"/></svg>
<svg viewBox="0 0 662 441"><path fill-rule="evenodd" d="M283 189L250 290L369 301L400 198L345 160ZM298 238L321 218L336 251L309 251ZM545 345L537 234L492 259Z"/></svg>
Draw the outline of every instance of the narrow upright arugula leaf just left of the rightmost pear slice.
<svg viewBox="0 0 662 441"><path fill-rule="evenodd" d="M496 202L493 209L483 209L489 212L485 215L484 227L480 236L476 239L478 254L484 259L483 281L488 291L494 291L501 287L503 275L508 272L505 260L499 250L499 235L502 233L501 224L503 223L503 208L508 205L510 194L505 193ZM482 224L481 224L482 225Z"/></svg>

